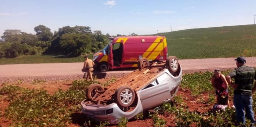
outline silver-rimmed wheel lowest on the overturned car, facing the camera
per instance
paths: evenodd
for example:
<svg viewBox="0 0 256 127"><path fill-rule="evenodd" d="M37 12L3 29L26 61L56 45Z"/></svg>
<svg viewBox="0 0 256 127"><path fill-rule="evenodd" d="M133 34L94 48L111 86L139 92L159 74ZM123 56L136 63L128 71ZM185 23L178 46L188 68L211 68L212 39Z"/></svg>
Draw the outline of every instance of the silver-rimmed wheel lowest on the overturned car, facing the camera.
<svg viewBox="0 0 256 127"><path fill-rule="evenodd" d="M114 100L118 106L128 108L134 99L135 92L128 86L121 86L115 91Z"/></svg>

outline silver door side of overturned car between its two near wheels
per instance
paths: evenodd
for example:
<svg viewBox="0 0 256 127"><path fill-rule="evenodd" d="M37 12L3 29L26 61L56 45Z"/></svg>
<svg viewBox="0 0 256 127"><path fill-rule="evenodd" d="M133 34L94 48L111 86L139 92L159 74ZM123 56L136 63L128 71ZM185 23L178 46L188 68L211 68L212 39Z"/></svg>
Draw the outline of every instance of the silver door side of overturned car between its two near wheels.
<svg viewBox="0 0 256 127"><path fill-rule="evenodd" d="M170 75L162 74L142 90L138 91L144 110L162 105L171 100L170 94Z"/></svg>

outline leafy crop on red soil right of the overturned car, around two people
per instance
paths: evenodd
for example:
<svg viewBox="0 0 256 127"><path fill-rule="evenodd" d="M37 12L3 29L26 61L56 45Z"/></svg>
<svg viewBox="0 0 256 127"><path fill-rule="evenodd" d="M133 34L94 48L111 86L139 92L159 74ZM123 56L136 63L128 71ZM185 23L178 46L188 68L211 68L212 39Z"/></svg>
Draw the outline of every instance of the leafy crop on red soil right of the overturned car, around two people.
<svg viewBox="0 0 256 127"><path fill-rule="evenodd" d="M230 70L223 71L222 73L226 75L229 72ZM196 98L199 98L199 95L202 93L208 93L212 95L209 97L211 101L197 101L197 103L207 103L213 106L215 102L213 96L214 89L211 85L212 75L212 72L185 74L181 83L181 91L189 90ZM233 91L234 89L229 87L229 100L233 100ZM256 99L256 95L253 98ZM216 113L211 110L198 113L197 111L189 110L189 107L183 103L182 99L186 99L186 97L181 98L181 96L176 95L173 99L173 106L170 103L164 104L157 110L158 113L174 115L176 127L191 127L192 125L196 125L196 127L235 127L235 109L227 108L225 111ZM253 110L255 112L256 107L253 107ZM246 127L249 127L249 125L250 122L246 121Z"/></svg>

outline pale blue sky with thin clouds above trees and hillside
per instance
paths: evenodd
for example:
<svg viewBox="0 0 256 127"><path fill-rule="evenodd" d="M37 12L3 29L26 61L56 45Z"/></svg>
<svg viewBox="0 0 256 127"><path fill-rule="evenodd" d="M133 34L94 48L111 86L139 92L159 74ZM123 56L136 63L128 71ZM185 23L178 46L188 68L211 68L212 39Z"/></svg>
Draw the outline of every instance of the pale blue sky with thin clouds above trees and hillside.
<svg viewBox="0 0 256 127"><path fill-rule="evenodd" d="M254 24L256 0L1 0L6 29L35 34L44 25L89 26L110 36Z"/></svg>

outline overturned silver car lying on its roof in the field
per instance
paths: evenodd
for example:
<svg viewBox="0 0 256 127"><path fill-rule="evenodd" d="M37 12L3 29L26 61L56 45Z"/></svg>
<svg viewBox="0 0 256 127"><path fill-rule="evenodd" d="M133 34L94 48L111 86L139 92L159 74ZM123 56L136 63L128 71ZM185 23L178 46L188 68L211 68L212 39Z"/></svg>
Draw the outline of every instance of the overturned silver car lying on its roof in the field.
<svg viewBox="0 0 256 127"><path fill-rule="evenodd" d="M103 87L91 84L86 88L82 112L91 121L117 124L137 114L171 102L182 81L182 68L175 56L158 65L140 58L138 68L122 79Z"/></svg>

